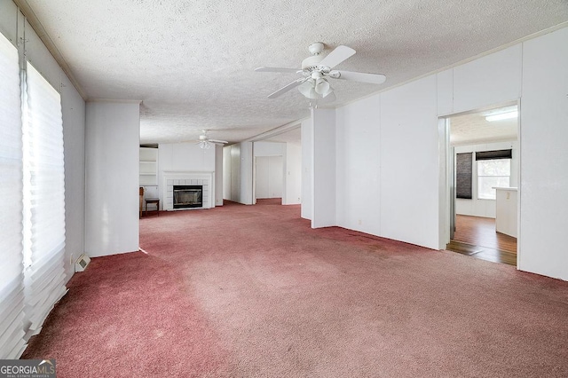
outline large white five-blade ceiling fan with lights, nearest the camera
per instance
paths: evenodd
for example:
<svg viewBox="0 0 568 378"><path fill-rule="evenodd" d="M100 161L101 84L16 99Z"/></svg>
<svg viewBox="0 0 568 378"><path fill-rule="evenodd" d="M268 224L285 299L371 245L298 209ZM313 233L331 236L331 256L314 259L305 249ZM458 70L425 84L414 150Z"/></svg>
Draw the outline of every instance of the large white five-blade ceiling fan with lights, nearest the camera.
<svg viewBox="0 0 568 378"><path fill-rule="evenodd" d="M280 88L280 90L271 93L268 95L268 98L277 98L296 87L306 98L318 99L327 98L330 95L333 96L334 89L327 81L327 78L374 84L382 84L386 80L385 75L333 69L342 63L343 60L349 59L355 54L355 50L351 49L351 47L337 46L326 57L319 55L324 50L324 44L321 42L312 43L308 50L312 53L312 56L302 61L301 69L281 67L258 67L255 69L256 72L295 72L303 76Z"/></svg>

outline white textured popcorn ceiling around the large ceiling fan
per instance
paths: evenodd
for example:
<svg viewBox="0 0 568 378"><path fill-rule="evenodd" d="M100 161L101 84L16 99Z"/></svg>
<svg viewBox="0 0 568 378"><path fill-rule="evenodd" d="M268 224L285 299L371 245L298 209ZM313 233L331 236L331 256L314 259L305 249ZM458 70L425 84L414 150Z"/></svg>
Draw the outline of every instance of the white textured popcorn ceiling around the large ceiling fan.
<svg viewBox="0 0 568 378"><path fill-rule="evenodd" d="M142 100L141 143L239 141L309 115L296 74L313 42L357 54L333 81L339 106L568 20L566 0L16 0L35 13L86 98ZM23 6L22 6L23 8Z"/></svg>

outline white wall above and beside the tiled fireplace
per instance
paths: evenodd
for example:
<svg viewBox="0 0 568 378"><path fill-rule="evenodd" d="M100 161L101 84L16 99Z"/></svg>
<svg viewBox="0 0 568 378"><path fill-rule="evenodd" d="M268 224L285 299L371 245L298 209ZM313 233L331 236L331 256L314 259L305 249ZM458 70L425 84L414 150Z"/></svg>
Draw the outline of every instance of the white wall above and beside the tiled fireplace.
<svg viewBox="0 0 568 378"><path fill-rule="evenodd" d="M194 143L164 143L158 146L158 198L163 198L163 172L213 172L216 148L202 149ZM221 183L222 184L222 183ZM213 184L217 190L217 183ZM213 203L216 203L214 201ZM163 209L160 202L160 209Z"/></svg>

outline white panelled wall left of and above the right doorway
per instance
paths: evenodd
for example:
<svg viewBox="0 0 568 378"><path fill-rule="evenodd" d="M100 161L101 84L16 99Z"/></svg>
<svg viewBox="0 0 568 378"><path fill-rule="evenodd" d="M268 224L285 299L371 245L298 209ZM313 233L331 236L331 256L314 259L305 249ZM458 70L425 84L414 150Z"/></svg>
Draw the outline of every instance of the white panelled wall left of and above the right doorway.
<svg viewBox="0 0 568 378"><path fill-rule="evenodd" d="M521 56L513 46L338 108L337 224L444 248L438 115L516 100Z"/></svg>

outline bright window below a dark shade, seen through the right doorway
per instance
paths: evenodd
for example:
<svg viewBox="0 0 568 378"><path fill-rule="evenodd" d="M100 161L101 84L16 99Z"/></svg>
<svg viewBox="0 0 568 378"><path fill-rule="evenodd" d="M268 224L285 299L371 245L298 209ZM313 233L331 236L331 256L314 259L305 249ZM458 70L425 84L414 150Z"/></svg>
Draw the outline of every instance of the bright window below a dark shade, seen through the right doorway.
<svg viewBox="0 0 568 378"><path fill-rule="evenodd" d="M494 200L495 186L509 186L511 175L510 159L477 161L477 199Z"/></svg>

